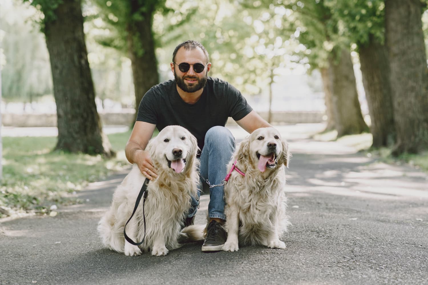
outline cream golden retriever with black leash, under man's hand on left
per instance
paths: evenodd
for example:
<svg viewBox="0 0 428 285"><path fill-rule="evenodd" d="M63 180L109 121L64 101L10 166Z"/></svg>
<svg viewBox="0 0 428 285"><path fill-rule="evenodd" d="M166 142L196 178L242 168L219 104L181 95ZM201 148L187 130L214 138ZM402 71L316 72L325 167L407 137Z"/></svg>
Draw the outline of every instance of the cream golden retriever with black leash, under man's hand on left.
<svg viewBox="0 0 428 285"><path fill-rule="evenodd" d="M123 229L131 217L138 193L145 180L137 165L116 188L113 202L98 223L103 244L127 256L138 256L152 250L154 256L164 256L179 247L178 237L190 197L196 197L199 176L196 159L196 138L181 126L167 126L150 140L147 146L158 178L149 182L144 205L146 238L140 246L125 241ZM126 234L134 242L144 237L143 199L134 217L126 226Z"/></svg>

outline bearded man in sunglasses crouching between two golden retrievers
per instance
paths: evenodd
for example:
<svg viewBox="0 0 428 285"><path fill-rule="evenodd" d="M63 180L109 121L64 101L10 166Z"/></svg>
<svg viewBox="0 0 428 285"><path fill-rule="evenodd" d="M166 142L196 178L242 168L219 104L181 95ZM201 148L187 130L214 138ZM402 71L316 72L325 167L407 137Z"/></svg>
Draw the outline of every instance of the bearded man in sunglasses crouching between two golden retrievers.
<svg viewBox="0 0 428 285"><path fill-rule="evenodd" d="M147 178L157 177L145 150L155 127L160 131L168 125L180 125L197 138L202 150L199 167L199 189L202 189L204 179L217 185L226 177L226 165L235 150L235 138L224 127L229 117L249 133L270 126L253 111L241 92L225 81L209 77L210 69L205 47L196 41L185 41L172 54L174 80L153 86L141 100L125 154L129 162L137 163ZM199 195L192 200L186 225L193 223ZM223 196L223 186L210 188L207 237L202 251L222 250L226 241L221 226L226 220Z"/></svg>

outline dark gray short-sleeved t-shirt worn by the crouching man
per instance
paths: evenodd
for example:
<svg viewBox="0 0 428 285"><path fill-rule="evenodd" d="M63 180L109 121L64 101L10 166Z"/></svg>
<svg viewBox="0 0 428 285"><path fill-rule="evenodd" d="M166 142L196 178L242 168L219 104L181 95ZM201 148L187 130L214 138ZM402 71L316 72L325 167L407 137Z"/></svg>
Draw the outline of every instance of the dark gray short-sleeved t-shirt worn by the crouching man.
<svg viewBox="0 0 428 285"><path fill-rule="evenodd" d="M155 124L159 131L169 125L183 126L196 137L202 150L208 129L225 126L229 117L241 120L252 110L241 92L221 79L208 76L195 104L181 99L172 79L147 91L138 107L137 121Z"/></svg>

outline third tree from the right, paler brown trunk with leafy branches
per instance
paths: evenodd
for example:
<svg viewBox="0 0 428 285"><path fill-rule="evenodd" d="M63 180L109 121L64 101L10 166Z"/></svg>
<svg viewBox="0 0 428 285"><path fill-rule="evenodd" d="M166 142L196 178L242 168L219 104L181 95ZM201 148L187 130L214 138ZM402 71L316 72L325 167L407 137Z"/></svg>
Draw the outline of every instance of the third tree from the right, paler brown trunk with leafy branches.
<svg viewBox="0 0 428 285"><path fill-rule="evenodd" d="M297 13L295 25L302 31L299 41L311 50L311 65L328 66L328 78L323 76L328 113L333 113L338 136L357 134L368 130L358 101L354 68L350 56L350 41L338 37L337 19L333 17L326 0L289 0L284 5Z"/></svg>

